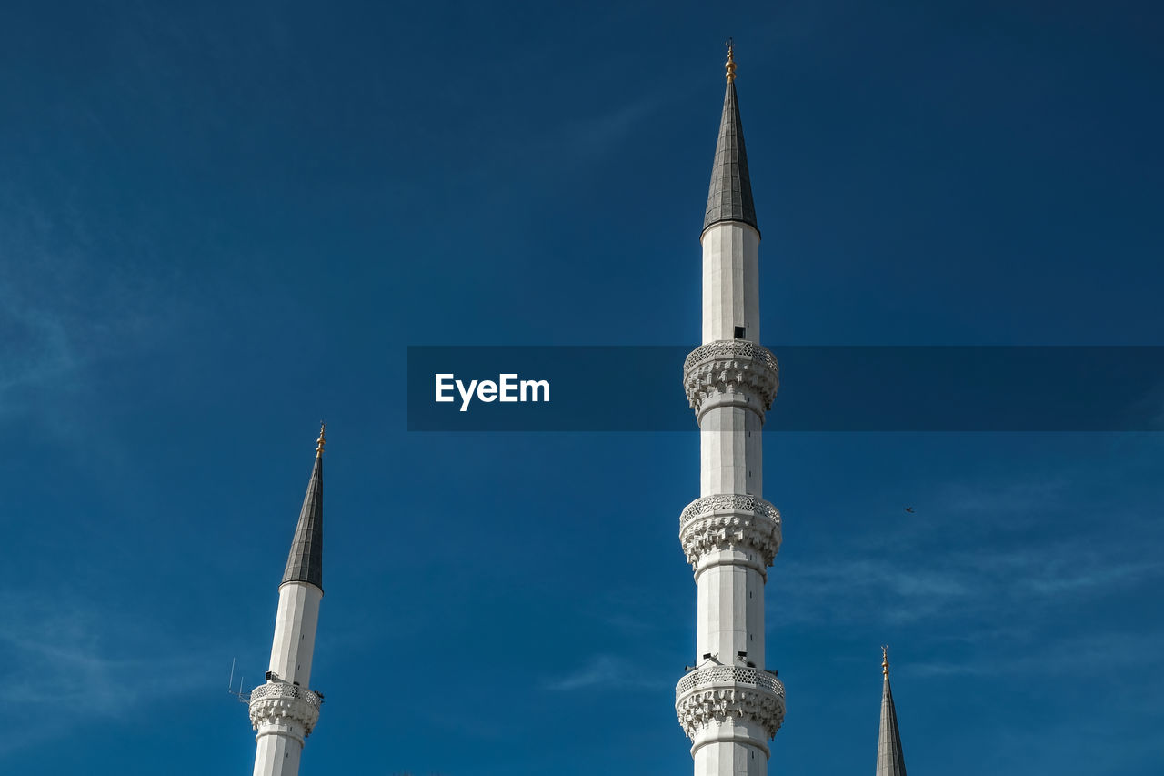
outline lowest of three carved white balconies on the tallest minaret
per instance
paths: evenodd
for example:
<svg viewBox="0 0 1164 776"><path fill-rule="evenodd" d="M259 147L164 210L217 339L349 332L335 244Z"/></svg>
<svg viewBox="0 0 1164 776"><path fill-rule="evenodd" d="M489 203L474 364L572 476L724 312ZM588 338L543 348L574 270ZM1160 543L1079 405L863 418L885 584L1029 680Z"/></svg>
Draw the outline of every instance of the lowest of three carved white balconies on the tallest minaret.
<svg viewBox="0 0 1164 776"><path fill-rule="evenodd" d="M679 680L675 713L693 741L701 728L732 721L754 722L771 739L785 721L785 685L768 671L708 665Z"/></svg>

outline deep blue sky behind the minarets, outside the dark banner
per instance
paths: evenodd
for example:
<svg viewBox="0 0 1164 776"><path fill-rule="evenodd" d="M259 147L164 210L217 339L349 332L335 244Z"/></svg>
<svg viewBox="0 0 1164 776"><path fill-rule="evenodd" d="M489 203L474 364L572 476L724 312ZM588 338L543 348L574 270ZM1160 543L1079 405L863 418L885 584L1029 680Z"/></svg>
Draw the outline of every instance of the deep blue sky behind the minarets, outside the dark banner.
<svg viewBox="0 0 1164 776"><path fill-rule="evenodd" d="M9 8L0 770L250 773L326 417L305 774L687 771L694 423L407 433L405 347L693 344L729 35L778 355L1164 345L1159 10L934 6ZM772 773L885 642L918 773L1159 773L1159 435L771 431Z"/></svg>

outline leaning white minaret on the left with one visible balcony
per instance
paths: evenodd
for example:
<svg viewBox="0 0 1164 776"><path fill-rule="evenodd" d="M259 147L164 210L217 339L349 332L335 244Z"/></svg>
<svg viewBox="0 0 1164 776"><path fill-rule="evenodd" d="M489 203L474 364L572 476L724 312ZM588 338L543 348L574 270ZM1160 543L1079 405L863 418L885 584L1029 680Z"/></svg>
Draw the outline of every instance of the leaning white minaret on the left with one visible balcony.
<svg viewBox="0 0 1164 776"><path fill-rule="evenodd" d="M308 690L319 601L324 598L324 428L315 467L299 510L286 571L279 585L275 642L267 682L250 692L250 724L257 731L255 776L296 776L303 742L319 719L324 696Z"/></svg>

